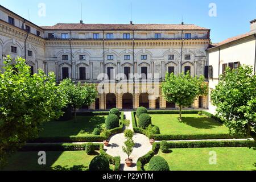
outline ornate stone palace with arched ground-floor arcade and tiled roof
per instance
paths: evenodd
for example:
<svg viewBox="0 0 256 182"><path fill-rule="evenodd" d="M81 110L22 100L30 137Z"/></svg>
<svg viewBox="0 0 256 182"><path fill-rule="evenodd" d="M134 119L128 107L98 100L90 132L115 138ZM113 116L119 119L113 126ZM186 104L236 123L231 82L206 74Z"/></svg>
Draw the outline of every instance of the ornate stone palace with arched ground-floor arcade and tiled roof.
<svg viewBox="0 0 256 182"><path fill-rule="evenodd" d="M209 42L210 30L194 24L81 21L39 27L0 6L1 68L5 55L22 56L33 73L43 69L55 72L57 81L94 83L99 94L90 110L175 109L162 97L161 82L167 72L204 75ZM191 107L207 109L207 98Z"/></svg>

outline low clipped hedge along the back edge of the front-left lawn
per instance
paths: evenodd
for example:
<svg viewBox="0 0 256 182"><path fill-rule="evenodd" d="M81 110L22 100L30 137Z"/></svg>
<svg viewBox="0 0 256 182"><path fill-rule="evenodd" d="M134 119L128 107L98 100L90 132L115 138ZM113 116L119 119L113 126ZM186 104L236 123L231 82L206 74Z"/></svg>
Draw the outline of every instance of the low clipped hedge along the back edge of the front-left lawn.
<svg viewBox="0 0 256 182"><path fill-rule="evenodd" d="M101 150L103 144L93 143L94 150ZM52 143L52 144L26 144L19 151L77 151L85 150L86 144Z"/></svg>

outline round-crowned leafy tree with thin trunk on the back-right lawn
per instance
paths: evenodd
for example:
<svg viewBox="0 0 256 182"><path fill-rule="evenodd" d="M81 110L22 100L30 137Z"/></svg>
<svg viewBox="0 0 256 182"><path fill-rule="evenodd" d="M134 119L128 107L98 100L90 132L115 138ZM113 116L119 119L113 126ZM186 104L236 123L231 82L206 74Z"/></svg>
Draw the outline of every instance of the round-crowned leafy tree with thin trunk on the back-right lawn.
<svg viewBox="0 0 256 182"><path fill-rule="evenodd" d="M167 73L166 80L162 84L163 96L166 101L174 102L180 107L180 121L182 121L181 110L193 104L199 96L206 96L208 92L207 84L204 82L204 76L192 77L180 73L175 76Z"/></svg>

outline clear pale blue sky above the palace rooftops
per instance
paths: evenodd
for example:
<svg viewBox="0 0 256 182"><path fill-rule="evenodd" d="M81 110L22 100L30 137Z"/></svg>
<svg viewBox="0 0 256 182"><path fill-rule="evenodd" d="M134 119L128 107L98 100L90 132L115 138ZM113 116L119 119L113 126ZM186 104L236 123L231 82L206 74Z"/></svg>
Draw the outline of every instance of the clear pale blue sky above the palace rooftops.
<svg viewBox="0 0 256 182"><path fill-rule="evenodd" d="M79 23L81 5L84 23L130 23L132 19L135 24L178 24L183 20L209 28L213 43L249 32L250 20L256 18L255 0L0 0L0 5L38 26Z"/></svg>

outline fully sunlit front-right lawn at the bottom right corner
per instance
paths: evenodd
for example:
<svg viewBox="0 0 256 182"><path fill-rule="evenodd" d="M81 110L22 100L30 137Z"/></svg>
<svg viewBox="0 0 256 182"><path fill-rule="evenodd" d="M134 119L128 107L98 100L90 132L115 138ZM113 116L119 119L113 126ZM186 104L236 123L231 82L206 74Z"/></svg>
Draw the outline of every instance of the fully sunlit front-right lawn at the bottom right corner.
<svg viewBox="0 0 256 182"><path fill-rule="evenodd" d="M209 164L209 152L217 154L217 164ZM256 170L256 151L247 147L175 148L169 154L159 152L171 171L251 171ZM147 165L145 169L147 169Z"/></svg>

